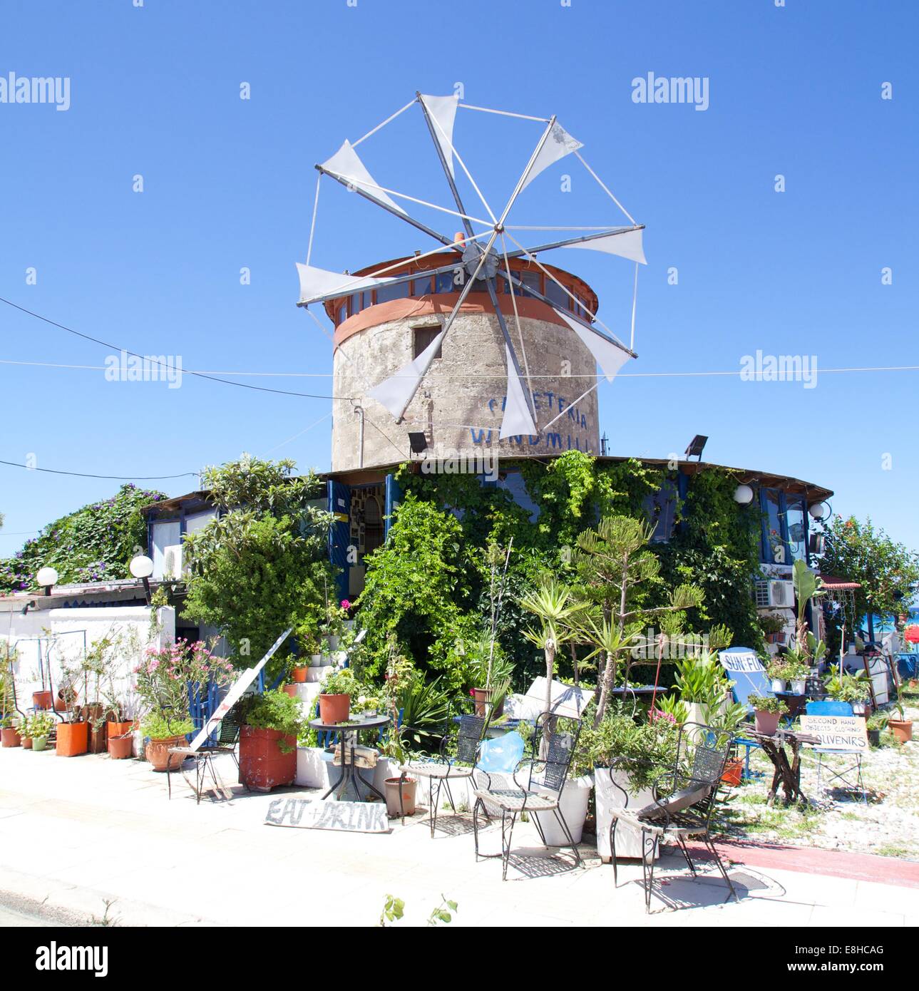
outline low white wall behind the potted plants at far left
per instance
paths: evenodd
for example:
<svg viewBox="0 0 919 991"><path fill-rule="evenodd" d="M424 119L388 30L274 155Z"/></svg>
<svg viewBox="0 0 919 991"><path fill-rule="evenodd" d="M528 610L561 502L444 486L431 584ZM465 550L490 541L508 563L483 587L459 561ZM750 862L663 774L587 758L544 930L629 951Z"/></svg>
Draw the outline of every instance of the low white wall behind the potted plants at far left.
<svg viewBox="0 0 919 991"><path fill-rule="evenodd" d="M151 615L156 611L157 625L151 628ZM100 608L30 610L25 615L12 612L2 615L6 629L0 631L0 657L6 655L6 641L17 648L19 658L13 665L16 693L20 709L32 706L32 693L42 689L42 667L50 653L51 678L57 693L61 682L61 662L76 661L93 641L109 632L134 633L133 649L125 649L115 668L115 688L128 705L130 715L138 715L136 699L131 691L133 668L148 646L162 646L175 638L175 610L163 606L154 610L148 606L106 606ZM41 642L40 642L41 639ZM51 650L49 652L49 647ZM40 649L42 663L40 664Z"/></svg>

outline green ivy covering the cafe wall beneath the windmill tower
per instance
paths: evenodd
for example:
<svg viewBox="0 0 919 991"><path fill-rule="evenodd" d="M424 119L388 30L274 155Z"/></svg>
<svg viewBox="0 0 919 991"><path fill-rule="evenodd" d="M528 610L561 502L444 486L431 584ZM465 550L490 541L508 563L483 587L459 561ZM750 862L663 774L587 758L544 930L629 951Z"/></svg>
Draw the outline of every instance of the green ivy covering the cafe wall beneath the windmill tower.
<svg viewBox="0 0 919 991"><path fill-rule="evenodd" d="M515 659L517 688L528 685L544 662L522 636L531 617L517 605L520 596L542 572L573 577L568 550L581 530L602 515L647 519L649 499L668 479L674 491L676 483L675 472L634 459L600 462L579 451L547 462L503 462L502 471L515 470L538 507L534 521L504 486L482 484L468 474L413 474L409 465L402 466L402 504L387 545L368 559L359 600L362 624L370 631L369 653L378 666L386 637L395 633L420 667L460 684L463 662L457 643L474 637L482 629L481 617L490 612L486 548L490 542L506 548L513 538L499 638ZM750 596L758 572L758 511L734 501L737 480L726 470L705 469L687 481L686 498L675 506L671 539L652 544L665 585L689 582L705 589L706 605L688 617L693 631L725 623L734 630L736 644L761 648ZM570 656L562 653L558 661L561 676L570 677Z"/></svg>

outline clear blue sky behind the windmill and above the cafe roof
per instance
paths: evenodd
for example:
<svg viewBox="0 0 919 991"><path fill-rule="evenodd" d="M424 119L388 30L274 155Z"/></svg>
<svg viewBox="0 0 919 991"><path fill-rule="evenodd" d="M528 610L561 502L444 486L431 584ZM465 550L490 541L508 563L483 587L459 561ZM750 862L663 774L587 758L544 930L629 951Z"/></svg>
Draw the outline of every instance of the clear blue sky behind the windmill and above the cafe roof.
<svg viewBox="0 0 919 991"><path fill-rule="evenodd" d="M600 390L611 452L666 457L708 434L708 460L826 486L836 511L870 514L917 547L919 373L823 371L919 365L917 22L905 0L9 5L0 77L69 77L71 105L0 103L0 295L120 347L180 355L185 369L310 374L238 381L328 395L328 340L294 305L312 165L415 90L462 83L472 104L557 114L647 225L639 360L627 371L737 372L757 349L818 358L811 389L624 375ZM632 102L632 79L649 71L706 77L708 109ZM455 141L497 201L538 134L461 110ZM362 154L381 184L450 205L417 108ZM433 247L326 182L313 264L356 269ZM566 163L532 183L513 220L621 215ZM590 252L559 264L591 282L600 316L628 335L630 265ZM0 304L5 362L98 367L109 354ZM301 433L328 412L322 398L11 364L0 382L7 461L126 476L194 472L244 450L329 464L329 420ZM0 465L0 555L117 485ZM195 480L159 485L175 495Z"/></svg>

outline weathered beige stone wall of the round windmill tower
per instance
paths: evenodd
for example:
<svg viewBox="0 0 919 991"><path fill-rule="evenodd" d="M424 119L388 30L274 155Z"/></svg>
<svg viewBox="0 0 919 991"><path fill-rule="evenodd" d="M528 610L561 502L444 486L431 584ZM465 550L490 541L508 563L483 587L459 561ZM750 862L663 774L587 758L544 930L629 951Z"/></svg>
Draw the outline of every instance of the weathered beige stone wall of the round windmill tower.
<svg viewBox="0 0 919 991"><path fill-rule="evenodd" d="M436 360L415 393L402 423L367 390L394 375L413 357L416 327L442 325L442 315L406 317L368 327L341 342L334 359L334 394L353 396L365 408L364 467L408 457L408 431L428 436L432 457L451 453L561 454L570 448L599 452L597 392L575 400L596 381L590 352L567 327L522 317L523 348L513 317L508 321L521 372L529 366L538 425L562 416L539 436L499 441L507 386L505 345L493 313L463 313L447 334ZM360 418L348 399L333 402L332 470L358 467Z"/></svg>

